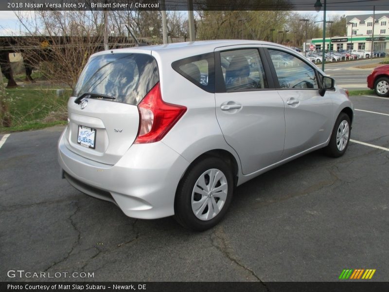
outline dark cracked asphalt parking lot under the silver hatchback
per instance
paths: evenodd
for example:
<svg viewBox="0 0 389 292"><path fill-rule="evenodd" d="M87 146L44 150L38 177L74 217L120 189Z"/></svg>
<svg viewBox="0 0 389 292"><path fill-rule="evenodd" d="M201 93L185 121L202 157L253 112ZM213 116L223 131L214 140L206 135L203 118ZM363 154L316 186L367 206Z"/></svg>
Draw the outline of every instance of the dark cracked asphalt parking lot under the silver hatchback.
<svg viewBox="0 0 389 292"><path fill-rule="evenodd" d="M63 127L0 134L0 280L336 281L343 269L376 269L371 281L389 281L389 99L351 100L343 157L316 151L239 186L203 233L128 218L61 180Z"/></svg>

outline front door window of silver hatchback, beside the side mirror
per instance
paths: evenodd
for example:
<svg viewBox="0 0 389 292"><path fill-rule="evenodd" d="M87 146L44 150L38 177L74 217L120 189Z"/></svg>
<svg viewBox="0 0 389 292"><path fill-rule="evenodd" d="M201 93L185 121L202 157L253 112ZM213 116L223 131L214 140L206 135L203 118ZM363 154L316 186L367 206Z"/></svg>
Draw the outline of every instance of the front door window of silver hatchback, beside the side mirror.
<svg viewBox="0 0 389 292"><path fill-rule="evenodd" d="M315 70L289 53L268 49L282 89L318 89Z"/></svg>

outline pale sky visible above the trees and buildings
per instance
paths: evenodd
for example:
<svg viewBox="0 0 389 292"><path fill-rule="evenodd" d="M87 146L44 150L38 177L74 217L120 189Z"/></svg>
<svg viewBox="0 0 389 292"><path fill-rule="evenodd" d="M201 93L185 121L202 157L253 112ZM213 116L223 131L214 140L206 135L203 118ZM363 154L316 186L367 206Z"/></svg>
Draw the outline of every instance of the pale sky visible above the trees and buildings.
<svg viewBox="0 0 389 292"><path fill-rule="evenodd" d="M318 20L323 19L323 12L316 11L297 11L301 14L316 15ZM30 13L26 11L26 13ZM358 14L372 14L372 11L327 11L327 20L334 15L358 15ZM376 13L389 13L389 11L376 11ZM19 35L20 30L19 21L13 11L0 11L0 36Z"/></svg>

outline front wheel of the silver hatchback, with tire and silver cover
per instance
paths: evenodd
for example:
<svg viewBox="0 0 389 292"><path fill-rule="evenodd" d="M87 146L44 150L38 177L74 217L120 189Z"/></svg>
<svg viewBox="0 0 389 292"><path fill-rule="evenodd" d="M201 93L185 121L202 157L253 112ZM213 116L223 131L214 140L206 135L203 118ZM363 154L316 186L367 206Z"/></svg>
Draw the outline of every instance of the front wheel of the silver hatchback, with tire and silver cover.
<svg viewBox="0 0 389 292"><path fill-rule="evenodd" d="M336 119L330 143L324 148L327 155L340 157L346 152L350 141L350 125L350 117L346 113L341 112Z"/></svg>

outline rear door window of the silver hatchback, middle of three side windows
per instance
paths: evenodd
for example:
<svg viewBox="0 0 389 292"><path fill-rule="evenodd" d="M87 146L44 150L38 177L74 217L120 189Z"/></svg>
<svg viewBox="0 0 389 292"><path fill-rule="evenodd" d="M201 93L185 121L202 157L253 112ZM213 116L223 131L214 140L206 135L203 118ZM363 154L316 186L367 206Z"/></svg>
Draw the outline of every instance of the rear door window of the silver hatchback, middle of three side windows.
<svg viewBox="0 0 389 292"><path fill-rule="evenodd" d="M257 49L220 52L226 91L267 88L264 67Z"/></svg>

